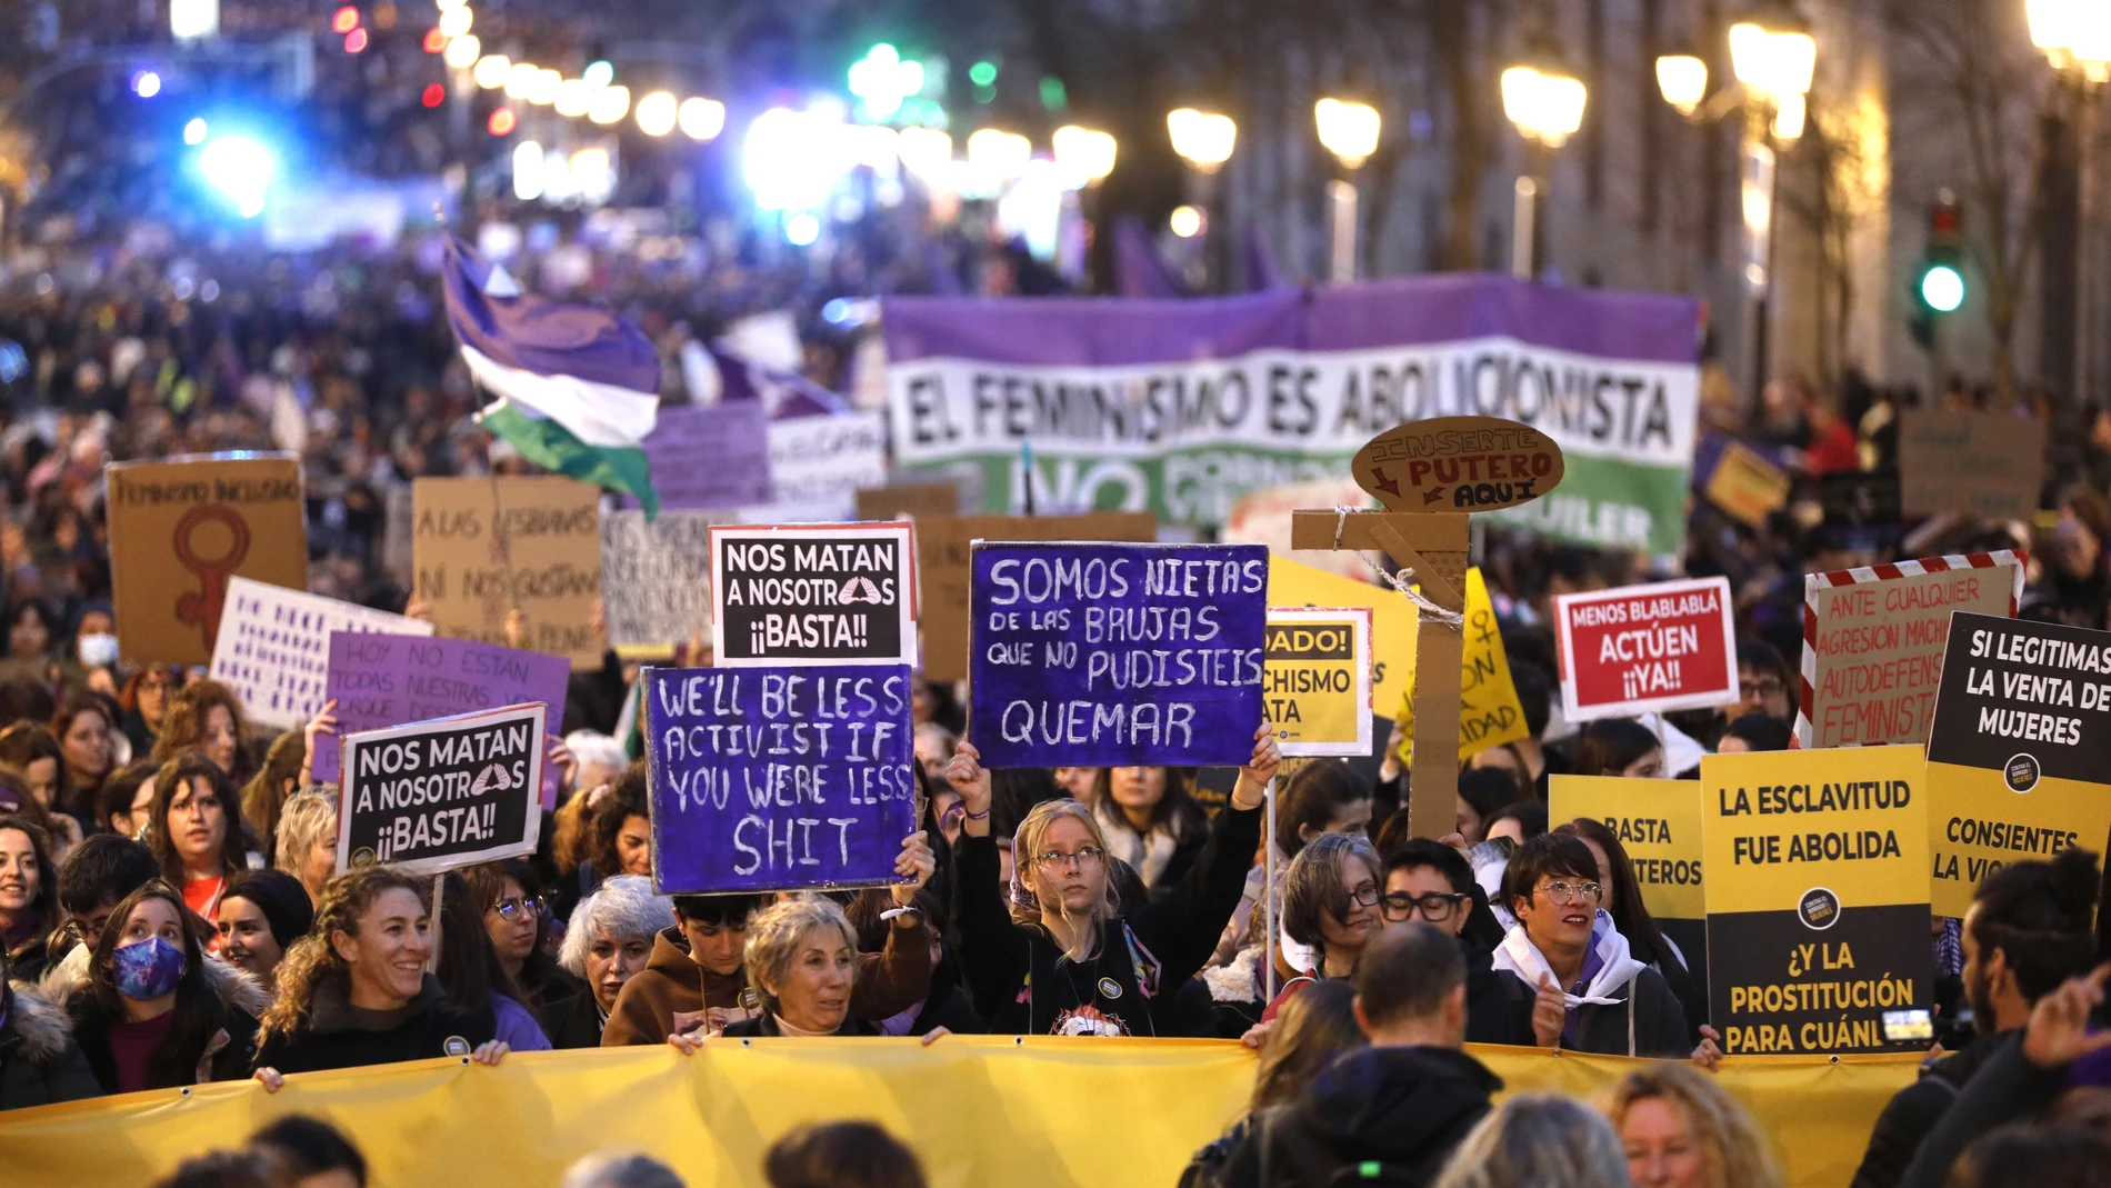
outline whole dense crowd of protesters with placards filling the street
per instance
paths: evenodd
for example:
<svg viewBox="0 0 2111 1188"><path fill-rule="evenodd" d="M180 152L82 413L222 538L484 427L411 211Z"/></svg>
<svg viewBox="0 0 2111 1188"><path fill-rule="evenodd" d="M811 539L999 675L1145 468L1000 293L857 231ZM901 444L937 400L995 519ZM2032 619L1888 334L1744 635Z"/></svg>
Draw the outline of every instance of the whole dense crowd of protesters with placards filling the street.
<svg viewBox="0 0 2111 1188"><path fill-rule="evenodd" d="M65 139L91 154L93 131ZM1655 525L1598 544L1509 515L1560 494L1554 435L1526 430L1501 458L1552 452L1539 471L1509 462L1543 490L1444 479L1459 544L1414 547L1457 553L1450 572L1391 536L1345 544L1357 523L1402 532L1421 509L1387 494L1435 481L1366 481L1362 454L1353 473L1330 462L1368 492L1355 506L1264 483L1324 513L1332 551L1292 549L1305 530L1288 517L1262 540L1157 500L1165 523L1138 530L1089 500L1053 506L1032 477L994 492L1007 466L1032 475L1032 433L1005 456L908 466L906 424L935 405L914 380L859 399L861 367L939 376L950 359L897 359L893 338L866 350L880 325L823 310L870 304L887 323L899 306L880 302L904 295L1062 289L994 236L904 232L821 270L578 228L502 266L460 226L281 253L116 234L97 224L110 207L156 198L65 196L78 177L44 198L93 211L78 234L0 266L0 1184L11 1114L97 1097L268 1095L268 1125L169 1161L167 1188L363 1188L346 1116L279 1108L327 1085L312 1074L452 1057L488 1076L519 1053L623 1047L690 1070L844 1036L931 1059L971 1036L1218 1040L1252 1091L1182 1188L1786 1188L1799 1133L1731 1074L1877 1053L1913 1066L1858 1135L1853 1188L2111 1184L2111 777L2092 758L2111 747L2092 751L2081 715L2111 711L2107 407L1851 371L1775 378L1746 407L1720 359L1678 344L1666 359L1691 367L1693 424L1676 513L1628 509ZM568 342L589 342L576 371L530 342L515 298L572 319ZM1693 321L1687 302L1666 310ZM796 361L737 357L728 331L756 314ZM490 411L526 371L644 390L663 426L737 414L743 445L648 439L648 483L623 462L557 466L547 437L507 428L517 407ZM952 399L948 433L969 407ZM2027 441L2024 490L2001 492L2014 506L1921 506L1925 418ZM1381 439L1421 441L1385 420ZM842 496L832 515L773 502L771 454L800 462L779 435L853 422L882 426L887 473L857 502L802 479ZM160 504L213 500L156 464L226 466L192 483L213 490L296 485L260 498L274 513L226 513L241 555L201 563L194 521ZM965 471L992 490L885 502ZM604 490L513 502L551 473ZM1963 464L1944 479L1993 485ZM699 487L758 494L737 511L676 496ZM1037 492L1081 536L1037 528ZM1495 513L1471 551L1469 509ZM125 519L163 513L160 555L131 551L146 534ZM450 540L477 517L490 540ZM610 544L665 544L684 523L680 572ZM566 532L587 561L524 559ZM505 589L469 595L483 549ZM931 576L948 549L958 591ZM251 568L272 553L277 576ZM443 570L452 587L431 578ZM851 612L809 614L819 587ZM741 601L754 591L762 608ZM160 618L137 610L150 601ZM1292 606L1311 618L1277 618ZM619 639L640 608L680 625ZM1362 618L1347 631L1328 608ZM300 614L336 627L289 627ZM1349 673L1347 745L1298 747L1279 717L1315 705L1275 696L1277 633L1305 627L1359 639L1307 656ZM1216 631L1248 644L1178 652L1186 677L1153 650ZM1444 631L1461 688L1429 673L1448 667ZM306 669L291 637L315 648ZM1066 639L1106 667L1058 660ZM2016 692L1997 665L1944 667L1965 654L2024 682L2065 669L2084 703ZM441 667L481 684L439 690ZM308 688L287 692L298 671ZM1429 688L1463 705L1433 713ZM1108 730L1121 745L1102 749ZM792 753L817 760L768 762ZM2090 806L1978 808L2001 781L2050 781L2033 806ZM1435 825L1431 804L1450 806ZM1794 817L1780 836L1763 833L1773 815ZM1769 869L1794 863L1811 867ZM1560 1053L1617 1074L1562 1093L1495 1068ZM1091 1131L1091 1066L1066 1070ZM939 1152L868 1118L764 1137L745 1182L937 1182ZM678 1163L610 1146L553 1182L680 1188Z"/></svg>

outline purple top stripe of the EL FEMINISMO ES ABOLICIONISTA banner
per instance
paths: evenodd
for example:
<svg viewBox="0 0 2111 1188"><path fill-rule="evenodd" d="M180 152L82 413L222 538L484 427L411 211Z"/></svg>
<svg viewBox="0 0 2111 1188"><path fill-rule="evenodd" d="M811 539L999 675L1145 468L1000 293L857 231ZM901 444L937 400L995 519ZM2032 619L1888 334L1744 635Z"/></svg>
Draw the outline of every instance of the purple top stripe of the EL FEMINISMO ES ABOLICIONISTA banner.
<svg viewBox="0 0 2111 1188"><path fill-rule="evenodd" d="M889 298L880 325L891 363L954 357L1119 367L1267 348L1370 350L1476 338L1693 363L1701 319L1691 298L1446 274L1191 300Z"/></svg>

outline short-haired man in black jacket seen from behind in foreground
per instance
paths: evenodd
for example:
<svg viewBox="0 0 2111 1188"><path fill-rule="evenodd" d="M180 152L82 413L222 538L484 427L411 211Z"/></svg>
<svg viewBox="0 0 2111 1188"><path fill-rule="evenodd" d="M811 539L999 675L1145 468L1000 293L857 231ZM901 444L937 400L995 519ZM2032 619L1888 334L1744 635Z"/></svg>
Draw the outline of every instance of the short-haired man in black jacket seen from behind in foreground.
<svg viewBox="0 0 2111 1188"><path fill-rule="evenodd" d="M1264 1110L1224 1169L1226 1188L1309 1188L1338 1175L1427 1184L1488 1114L1501 1078L1467 1055L1465 956L1423 922L1364 945L1355 1017L1370 1047Z"/></svg>

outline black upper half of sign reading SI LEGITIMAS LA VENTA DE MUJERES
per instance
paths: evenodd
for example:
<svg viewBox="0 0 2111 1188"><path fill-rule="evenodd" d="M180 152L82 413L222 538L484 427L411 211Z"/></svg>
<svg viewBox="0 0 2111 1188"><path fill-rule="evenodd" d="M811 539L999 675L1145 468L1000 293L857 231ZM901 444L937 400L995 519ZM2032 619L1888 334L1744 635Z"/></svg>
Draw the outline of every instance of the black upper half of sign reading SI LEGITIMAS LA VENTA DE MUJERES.
<svg viewBox="0 0 2111 1188"><path fill-rule="evenodd" d="M2111 772L2111 631L1951 616L1927 762L2105 783Z"/></svg>

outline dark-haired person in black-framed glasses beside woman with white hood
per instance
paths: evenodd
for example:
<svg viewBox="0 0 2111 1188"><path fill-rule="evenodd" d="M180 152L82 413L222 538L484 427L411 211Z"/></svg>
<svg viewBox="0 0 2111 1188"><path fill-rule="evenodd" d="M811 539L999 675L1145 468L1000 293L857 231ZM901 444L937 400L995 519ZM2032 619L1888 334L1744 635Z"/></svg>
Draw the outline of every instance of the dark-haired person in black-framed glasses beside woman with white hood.
<svg viewBox="0 0 2111 1188"><path fill-rule="evenodd" d="M1558 990L1535 994L1516 973L1495 969L1503 926L1473 882L1465 855L1414 838L1385 855L1378 916L1387 928L1423 920L1454 937L1465 954L1465 1038L1469 1045L1554 1047L1566 1004Z"/></svg>

